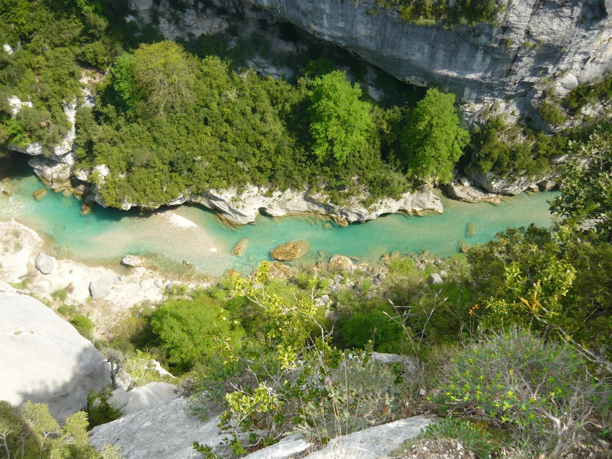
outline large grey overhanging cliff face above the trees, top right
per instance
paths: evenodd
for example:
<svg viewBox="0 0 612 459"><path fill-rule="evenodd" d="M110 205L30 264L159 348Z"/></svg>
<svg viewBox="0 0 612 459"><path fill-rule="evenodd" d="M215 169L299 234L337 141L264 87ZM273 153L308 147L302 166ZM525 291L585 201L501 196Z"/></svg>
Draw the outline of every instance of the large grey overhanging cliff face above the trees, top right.
<svg viewBox="0 0 612 459"><path fill-rule="evenodd" d="M465 102L514 98L530 105L541 75L558 94L612 70L612 4L509 2L496 24L418 26L375 0L220 0L288 21L354 51L397 78L439 86ZM562 75L562 77L561 77Z"/></svg>

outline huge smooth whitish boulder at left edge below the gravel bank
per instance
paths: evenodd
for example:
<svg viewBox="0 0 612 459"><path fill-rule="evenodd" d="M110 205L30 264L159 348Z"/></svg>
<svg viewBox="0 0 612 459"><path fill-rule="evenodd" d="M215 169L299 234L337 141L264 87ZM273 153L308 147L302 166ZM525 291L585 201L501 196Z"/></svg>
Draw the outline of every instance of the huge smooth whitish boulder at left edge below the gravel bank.
<svg viewBox="0 0 612 459"><path fill-rule="evenodd" d="M94 346L37 299L0 281L0 400L48 403L60 420L86 404L90 389L110 384Z"/></svg>

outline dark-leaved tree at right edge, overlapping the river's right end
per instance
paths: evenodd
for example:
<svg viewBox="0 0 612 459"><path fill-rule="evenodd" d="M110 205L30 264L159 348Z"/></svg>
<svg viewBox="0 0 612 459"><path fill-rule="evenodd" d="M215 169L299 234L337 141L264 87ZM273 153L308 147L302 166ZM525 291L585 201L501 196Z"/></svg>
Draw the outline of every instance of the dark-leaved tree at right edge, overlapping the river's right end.
<svg viewBox="0 0 612 459"><path fill-rule="evenodd" d="M551 202L573 231L612 242L612 125L600 126L586 143L569 143L561 195Z"/></svg>

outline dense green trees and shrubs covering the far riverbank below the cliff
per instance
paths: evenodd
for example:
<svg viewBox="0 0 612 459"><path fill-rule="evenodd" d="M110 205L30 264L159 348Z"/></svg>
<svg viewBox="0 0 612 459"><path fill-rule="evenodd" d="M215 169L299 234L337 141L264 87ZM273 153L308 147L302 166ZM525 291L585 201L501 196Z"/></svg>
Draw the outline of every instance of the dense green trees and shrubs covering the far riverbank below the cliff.
<svg viewBox="0 0 612 459"><path fill-rule="evenodd" d="M411 5L438 15L442 3ZM456 14L488 9L462 5L453 6ZM325 52L296 56L301 70L288 80L263 78L244 63L248 50L274 60L264 37L254 35L258 50L239 36L240 46L231 47L229 35L171 42L151 24L118 19L127 14L114 2L54 0L12 0L0 13L0 38L12 47L0 65L0 142L39 142L50 153L70 127L62 103L83 102L82 87L94 92L95 105L76 113L75 152L80 168L109 168L89 177L109 206L154 207L185 192L246 185L369 205L444 184L458 163L539 176L577 138L498 117L468 144L453 94L432 88L418 100L404 90L379 103L364 91L363 66Z"/></svg>

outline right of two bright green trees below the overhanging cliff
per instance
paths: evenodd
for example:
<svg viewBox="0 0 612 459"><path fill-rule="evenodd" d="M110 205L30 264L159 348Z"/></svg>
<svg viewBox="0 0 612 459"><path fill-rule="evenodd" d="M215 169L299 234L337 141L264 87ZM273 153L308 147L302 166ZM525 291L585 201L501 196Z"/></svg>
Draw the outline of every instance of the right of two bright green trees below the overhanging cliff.
<svg viewBox="0 0 612 459"><path fill-rule="evenodd" d="M428 89L409 115L402 136L403 162L419 180L449 182L455 163L469 141L453 106L455 94Z"/></svg>

